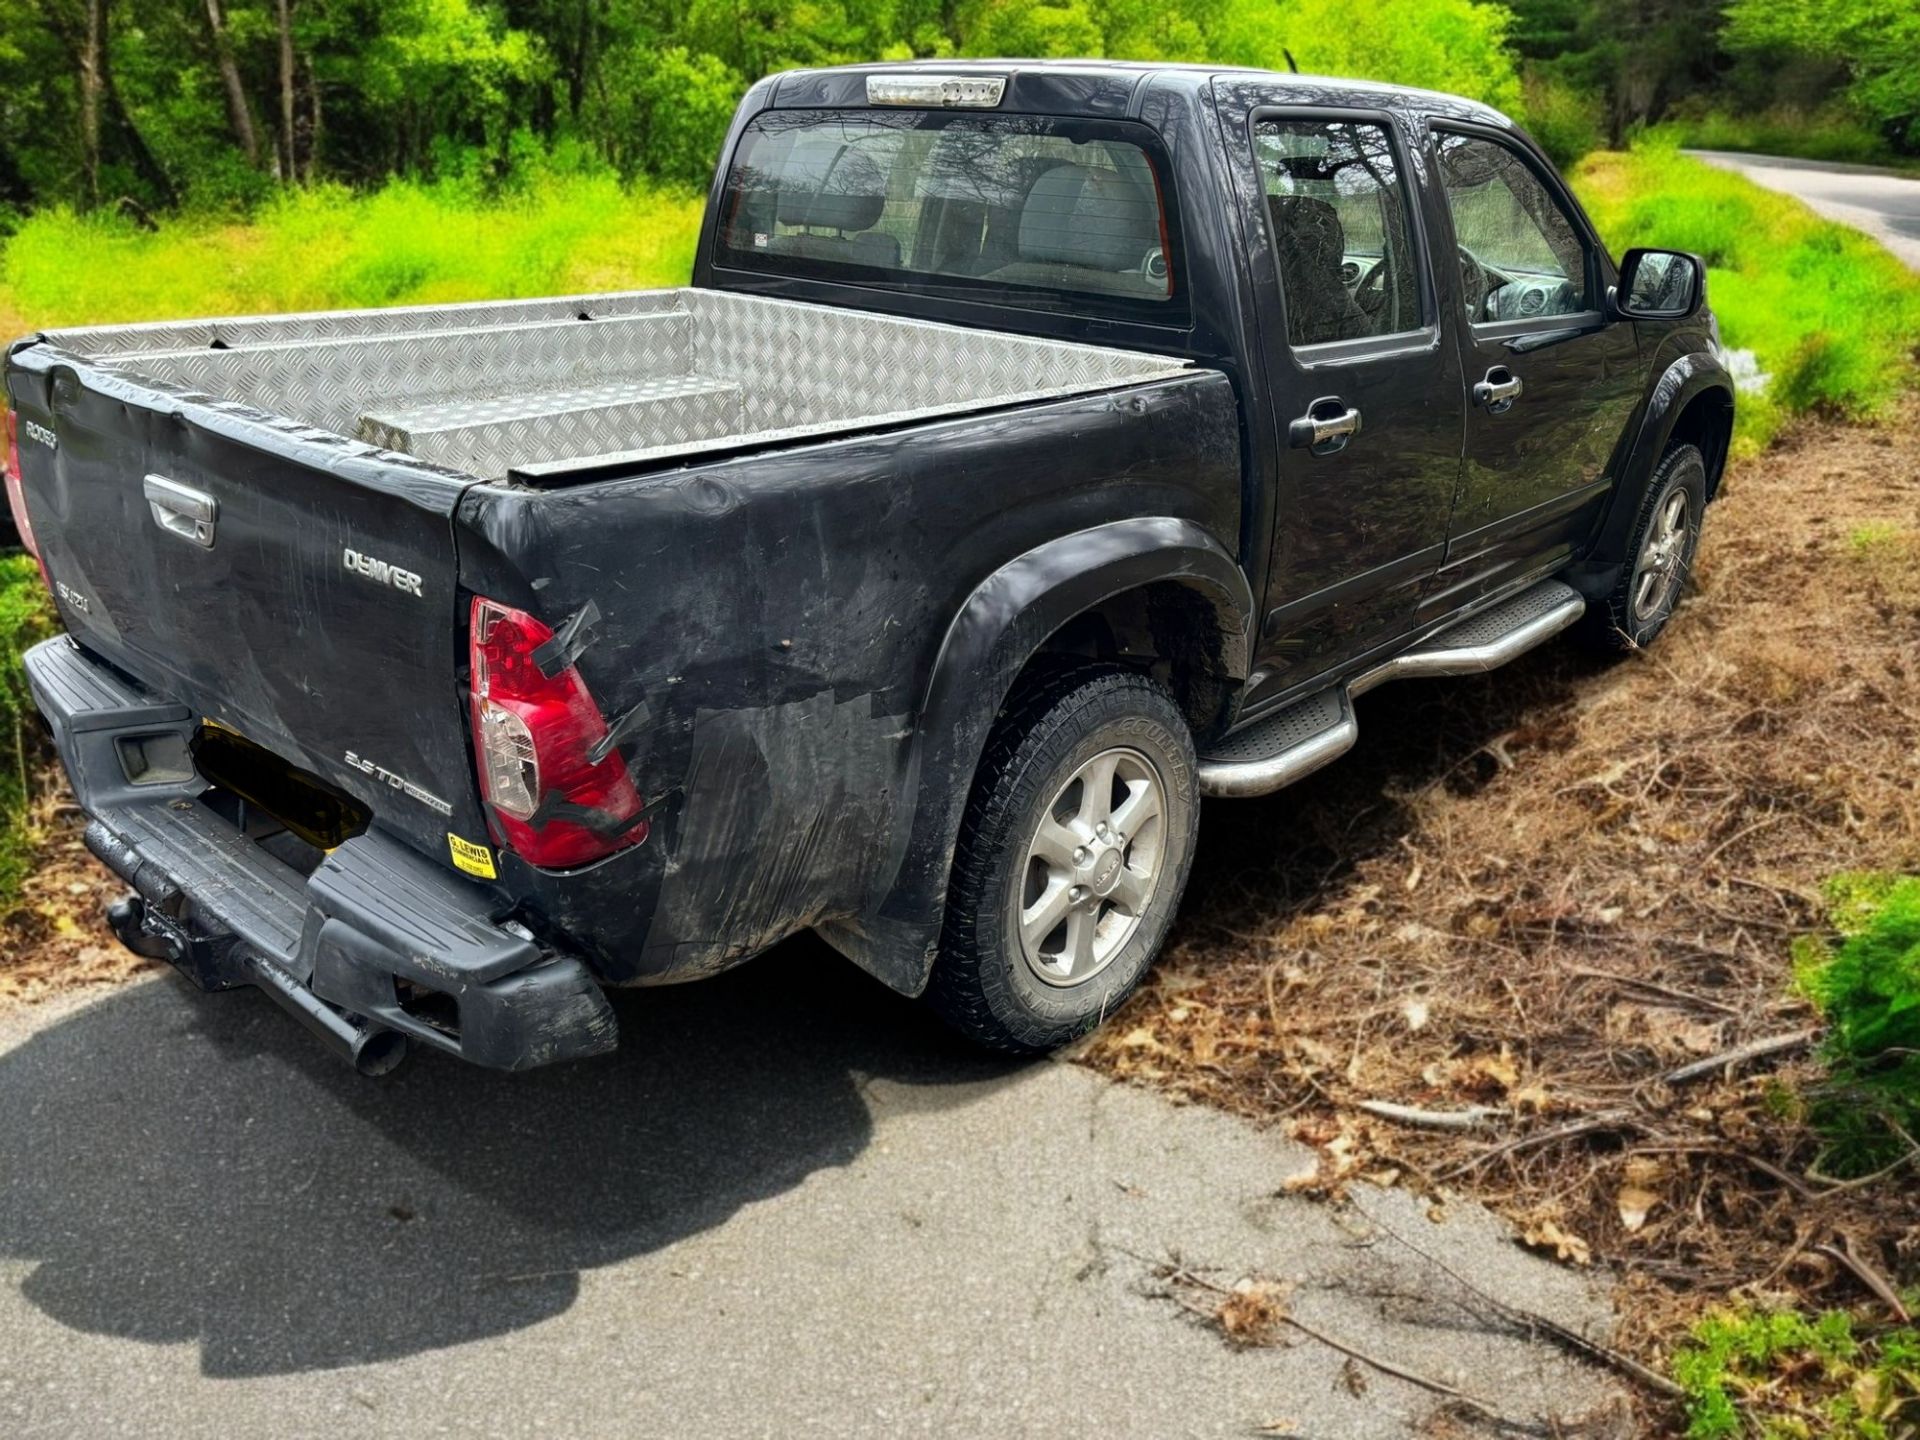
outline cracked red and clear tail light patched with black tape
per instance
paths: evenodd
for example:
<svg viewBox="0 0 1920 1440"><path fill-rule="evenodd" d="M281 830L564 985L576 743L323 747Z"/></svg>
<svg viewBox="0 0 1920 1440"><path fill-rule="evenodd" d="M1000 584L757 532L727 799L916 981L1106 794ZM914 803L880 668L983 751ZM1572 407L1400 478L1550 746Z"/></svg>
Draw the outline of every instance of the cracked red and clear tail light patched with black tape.
<svg viewBox="0 0 1920 1440"><path fill-rule="evenodd" d="M588 864L647 839L639 791L607 739L607 716L580 670L549 674L534 653L553 639L541 620L474 597L472 728L480 795L495 837L547 870Z"/></svg>

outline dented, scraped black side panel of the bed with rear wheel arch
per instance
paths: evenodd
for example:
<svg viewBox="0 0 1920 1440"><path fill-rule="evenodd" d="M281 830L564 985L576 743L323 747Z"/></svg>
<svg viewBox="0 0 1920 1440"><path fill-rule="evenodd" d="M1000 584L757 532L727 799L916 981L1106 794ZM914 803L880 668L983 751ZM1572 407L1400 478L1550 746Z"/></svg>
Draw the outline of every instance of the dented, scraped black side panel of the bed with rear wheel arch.
<svg viewBox="0 0 1920 1440"><path fill-rule="evenodd" d="M1177 578L1244 645L1217 540L1238 524L1233 417L1221 376L1188 374L564 492L472 488L463 584L599 611L578 664L607 714L645 708L622 749L655 810L593 872L503 854L505 883L614 981L822 927L918 991L954 793L1044 616Z"/></svg>

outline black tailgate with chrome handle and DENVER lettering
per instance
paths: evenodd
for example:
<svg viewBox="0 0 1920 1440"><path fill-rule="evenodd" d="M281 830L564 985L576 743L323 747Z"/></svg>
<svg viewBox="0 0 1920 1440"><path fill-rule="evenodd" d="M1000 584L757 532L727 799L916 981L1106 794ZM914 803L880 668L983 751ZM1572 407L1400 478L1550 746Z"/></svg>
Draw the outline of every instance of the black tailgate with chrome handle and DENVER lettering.
<svg viewBox="0 0 1920 1440"><path fill-rule="evenodd" d="M33 346L21 470L67 630L447 860L486 843L449 516L467 480Z"/></svg>

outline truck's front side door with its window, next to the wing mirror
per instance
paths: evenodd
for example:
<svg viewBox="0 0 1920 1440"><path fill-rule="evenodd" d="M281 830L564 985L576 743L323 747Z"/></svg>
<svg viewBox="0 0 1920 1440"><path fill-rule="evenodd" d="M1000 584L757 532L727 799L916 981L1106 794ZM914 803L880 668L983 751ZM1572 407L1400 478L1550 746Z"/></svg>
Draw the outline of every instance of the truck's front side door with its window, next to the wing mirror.
<svg viewBox="0 0 1920 1440"><path fill-rule="evenodd" d="M1467 371L1467 445L1446 566L1452 611L1551 570L1592 534L1640 401L1634 326L1605 315L1613 263L1559 177L1517 136L1436 123L1427 167Z"/></svg>

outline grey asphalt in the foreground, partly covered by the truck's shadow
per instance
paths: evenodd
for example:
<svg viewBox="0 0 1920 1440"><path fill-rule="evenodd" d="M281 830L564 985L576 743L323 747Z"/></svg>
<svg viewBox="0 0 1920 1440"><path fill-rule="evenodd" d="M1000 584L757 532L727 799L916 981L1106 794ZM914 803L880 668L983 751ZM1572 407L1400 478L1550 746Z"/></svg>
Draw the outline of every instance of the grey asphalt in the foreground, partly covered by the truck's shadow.
<svg viewBox="0 0 1920 1440"><path fill-rule="evenodd" d="M1409 1434L1432 1392L1154 1298L1179 1254L1515 1415L1617 1390L1503 1329L1306 1152L956 1048L814 943L620 996L624 1048L367 1081L171 975L0 1014L0 1432ZM1373 1219L1590 1329L1482 1212Z"/></svg>

